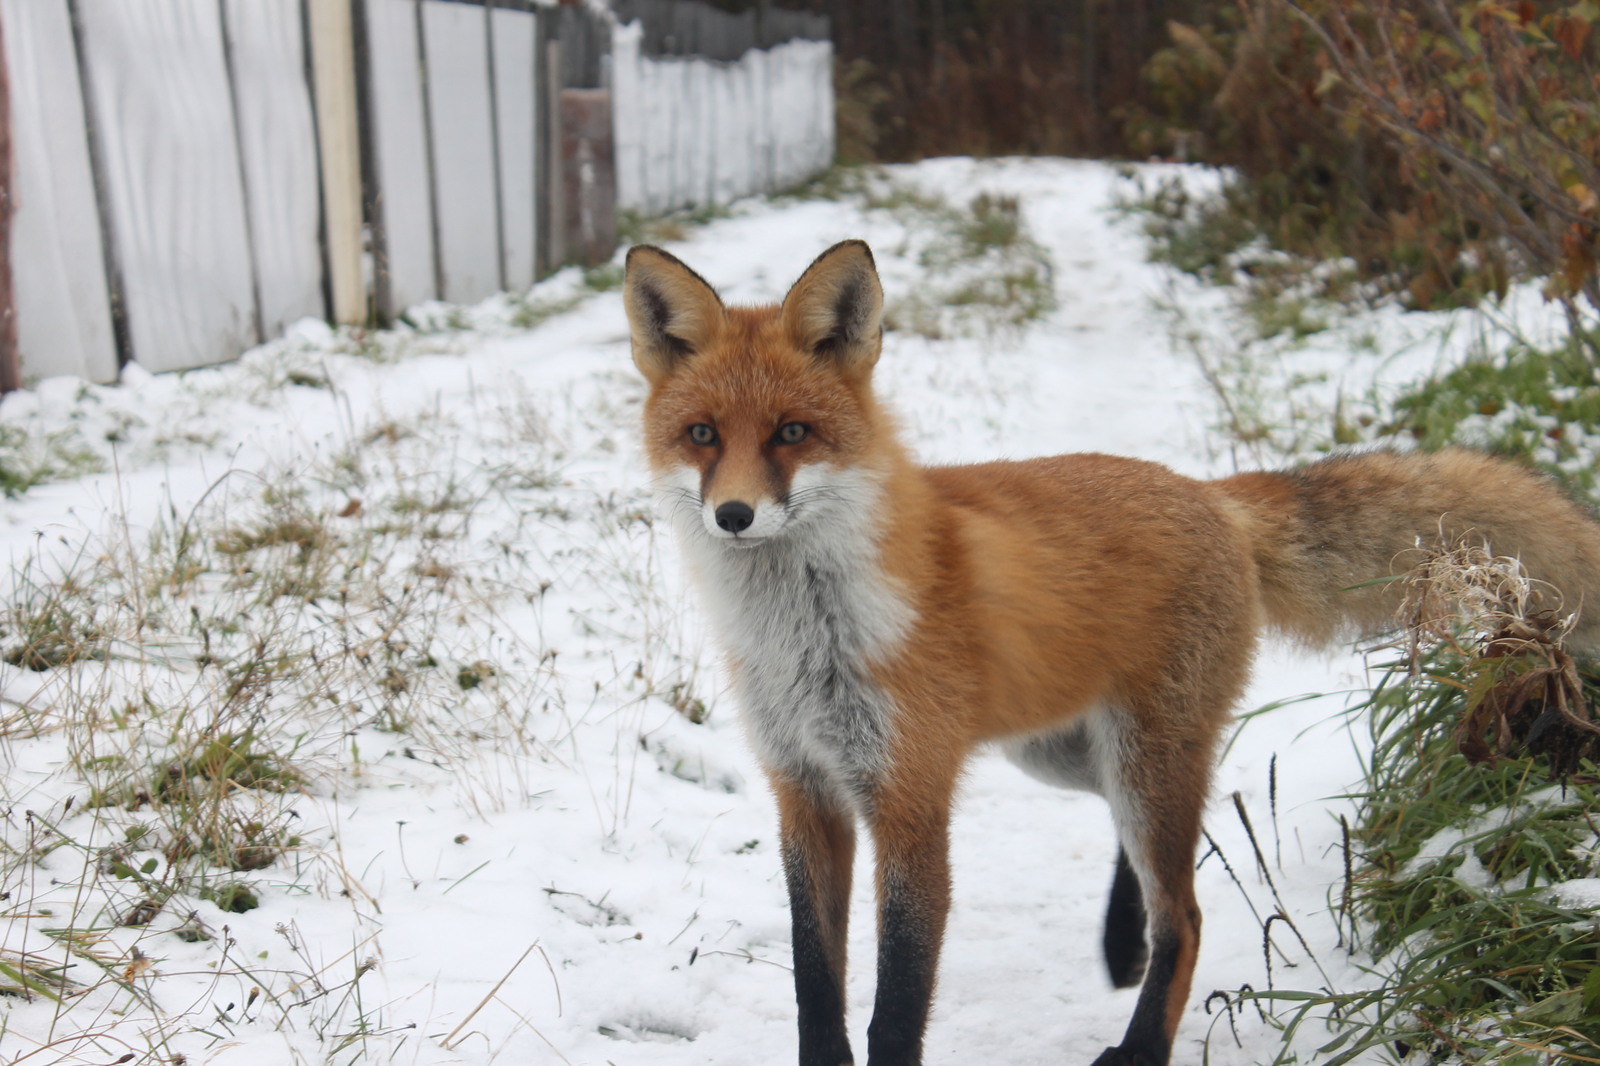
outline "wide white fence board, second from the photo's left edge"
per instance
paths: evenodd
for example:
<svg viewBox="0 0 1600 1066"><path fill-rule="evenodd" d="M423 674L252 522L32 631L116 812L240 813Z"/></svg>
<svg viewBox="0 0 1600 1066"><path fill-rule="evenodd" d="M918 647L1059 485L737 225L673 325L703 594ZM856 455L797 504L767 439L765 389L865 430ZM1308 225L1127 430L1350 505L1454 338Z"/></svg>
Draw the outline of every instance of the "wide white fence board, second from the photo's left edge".
<svg viewBox="0 0 1600 1066"><path fill-rule="evenodd" d="M256 309L216 0L77 3L131 354L234 359Z"/></svg>

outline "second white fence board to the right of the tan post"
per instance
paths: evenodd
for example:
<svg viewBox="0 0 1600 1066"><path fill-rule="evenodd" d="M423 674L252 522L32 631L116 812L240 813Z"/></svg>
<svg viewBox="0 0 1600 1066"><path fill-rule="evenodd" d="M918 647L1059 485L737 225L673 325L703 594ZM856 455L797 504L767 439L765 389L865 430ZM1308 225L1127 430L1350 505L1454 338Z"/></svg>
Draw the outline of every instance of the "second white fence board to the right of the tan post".
<svg viewBox="0 0 1600 1066"><path fill-rule="evenodd" d="M501 290L485 11L422 0L422 32L445 290L440 295L472 303Z"/></svg>

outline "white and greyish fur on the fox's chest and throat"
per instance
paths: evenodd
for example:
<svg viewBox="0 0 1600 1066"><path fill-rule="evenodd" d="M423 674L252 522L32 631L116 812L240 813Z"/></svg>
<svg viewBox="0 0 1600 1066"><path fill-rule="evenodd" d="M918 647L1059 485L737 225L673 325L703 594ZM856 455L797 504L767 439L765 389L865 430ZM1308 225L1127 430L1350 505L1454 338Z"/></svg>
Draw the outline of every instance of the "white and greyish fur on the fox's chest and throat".
<svg viewBox="0 0 1600 1066"><path fill-rule="evenodd" d="M830 469L805 480L782 530L754 546L709 535L682 499L669 511L736 663L757 754L861 804L886 763L893 714L869 667L904 640L914 611L880 565L875 480Z"/></svg>

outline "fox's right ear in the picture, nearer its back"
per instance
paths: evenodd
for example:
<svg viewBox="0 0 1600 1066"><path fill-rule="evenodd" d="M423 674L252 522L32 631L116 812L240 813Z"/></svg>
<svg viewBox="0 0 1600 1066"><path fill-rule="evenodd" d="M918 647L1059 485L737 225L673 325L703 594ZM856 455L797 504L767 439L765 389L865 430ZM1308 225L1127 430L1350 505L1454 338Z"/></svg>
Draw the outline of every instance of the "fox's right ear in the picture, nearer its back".
<svg viewBox="0 0 1600 1066"><path fill-rule="evenodd" d="M883 287L864 240L842 240L784 296L789 339L840 370L864 373L883 349Z"/></svg>

